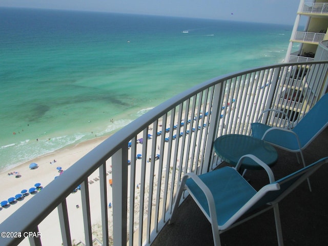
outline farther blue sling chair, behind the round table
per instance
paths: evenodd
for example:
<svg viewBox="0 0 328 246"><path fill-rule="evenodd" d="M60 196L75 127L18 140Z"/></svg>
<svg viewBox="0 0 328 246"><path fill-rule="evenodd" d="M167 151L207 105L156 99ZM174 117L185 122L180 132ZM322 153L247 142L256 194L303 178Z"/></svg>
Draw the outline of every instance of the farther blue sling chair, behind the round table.
<svg viewBox="0 0 328 246"><path fill-rule="evenodd" d="M288 127L270 127L261 124L259 121L263 113L275 111L283 113L288 118ZM328 126L328 93L323 95L312 109L292 129L289 125L289 117L282 111L264 110L257 122L251 124L252 136L270 142L275 147L286 151L295 152L298 162L300 162L297 153L301 156L301 163L305 167L305 161L302 151ZM311 190L310 182L309 188Z"/></svg>

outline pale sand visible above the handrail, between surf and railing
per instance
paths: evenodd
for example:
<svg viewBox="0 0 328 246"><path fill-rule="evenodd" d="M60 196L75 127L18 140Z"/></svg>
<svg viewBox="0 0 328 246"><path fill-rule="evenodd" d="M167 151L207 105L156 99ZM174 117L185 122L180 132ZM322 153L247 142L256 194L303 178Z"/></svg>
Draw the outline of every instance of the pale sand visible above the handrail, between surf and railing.
<svg viewBox="0 0 328 246"><path fill-rule="evenodd" d="M9 197L14 197L24 189L29 190L34 187L37 182L41 183L41 187L47 186L59 175L57 167L61 167L64 171L67 170L77 160L85 156L108 137L109 136L101 136L75 145L63 147L54 152L21 163L9 170L1 171L0 176L3 182L6 183L6 189L3 189L0 194L1 201L7 200ZM54 160L56 161L54 162ZM29 168L32 162L37 163L38 167L36 169ZM16 178L15 175L8 175L9 173L15 172L18 172L19 177ZM30 194L25 196L22 200L17 200L15 203L10 204L7 208L1 208L0 223L13 214L18 208L22 207L23 204L33 196L34 195Z"/></svg>

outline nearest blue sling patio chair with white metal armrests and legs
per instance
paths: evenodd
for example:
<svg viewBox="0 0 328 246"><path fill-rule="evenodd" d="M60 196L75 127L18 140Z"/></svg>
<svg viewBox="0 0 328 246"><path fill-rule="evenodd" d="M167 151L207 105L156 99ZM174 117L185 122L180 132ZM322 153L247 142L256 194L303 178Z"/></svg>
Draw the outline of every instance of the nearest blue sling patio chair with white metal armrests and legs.
<svg viewBox="0 0 328 246"><path fill-rule="evenodd" d="M257 161L268 173L270 183L259 191L238 172L244 158ZM327 162L328 157L325 157L277 181L271 169L254 155L241 157L236 168L223 167L199 176L188 173L181 180L170 223L174 223L181 195L187 189L212 225L214 245L221 245L220 233L270 209L274 210L278 245L283 245L278 202ZM250 215L244 218L246 214Z"/></svg>

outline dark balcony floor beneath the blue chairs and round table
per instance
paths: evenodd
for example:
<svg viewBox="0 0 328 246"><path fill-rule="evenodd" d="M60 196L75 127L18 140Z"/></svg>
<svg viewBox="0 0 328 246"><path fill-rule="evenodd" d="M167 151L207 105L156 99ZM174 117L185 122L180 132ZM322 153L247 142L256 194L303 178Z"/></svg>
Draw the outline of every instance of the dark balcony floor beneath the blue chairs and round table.
<svg viewBox="0 0 328 246"><path fill-rule="evenodd" d="M305 149L306 163L328 156L328 128ZM294 153L277 149L279 159L272 168L278 179L301 166ZM224 164L224 163L223 163ZM223 165L222 164L222 165ZM322 166L279 203L285 245L327 245L328 243L328 166ZM245 177L257 189L268 182L264 171L248 171ZM277 245L273 211L270 210L220 235L221 244ZM167 224L152 245L213 245L211 226L194 201L188 197L179 207L175 224Z"/></svg>

